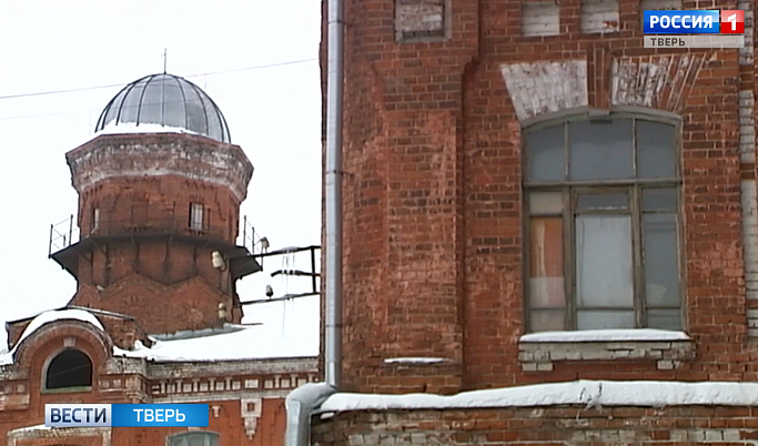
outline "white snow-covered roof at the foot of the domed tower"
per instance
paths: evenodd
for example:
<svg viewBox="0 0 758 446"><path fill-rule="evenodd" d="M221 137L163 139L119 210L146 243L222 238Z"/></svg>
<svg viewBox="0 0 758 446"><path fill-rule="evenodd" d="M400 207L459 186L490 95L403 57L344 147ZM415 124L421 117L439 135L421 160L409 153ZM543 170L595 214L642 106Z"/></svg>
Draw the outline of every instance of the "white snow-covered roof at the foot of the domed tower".
<svg viewBox="0 0 758 446"><path fill-rule="evenodd" d="M303 336L299 332L284 331L276 324L228 327L232 330L189 338L180 336L170 341L155 339L151 347L140 343L133 351L117 347L113 354L158 362L240 361L319 355L317 332Z"/></svg>

